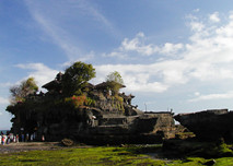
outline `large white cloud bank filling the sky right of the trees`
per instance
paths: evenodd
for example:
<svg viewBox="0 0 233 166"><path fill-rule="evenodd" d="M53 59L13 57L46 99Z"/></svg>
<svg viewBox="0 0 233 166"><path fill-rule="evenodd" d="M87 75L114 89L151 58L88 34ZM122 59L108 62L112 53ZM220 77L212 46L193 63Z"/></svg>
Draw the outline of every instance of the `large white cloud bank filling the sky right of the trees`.
<svg viewBox="0 0 233 166"><path fill-rule="evenodd" d="M189 15L193 35L186 44L167 42L162 47L153 43L145 44L147 36L143 33L132 39L125 38L120 47L108 55L114 58L123 55L129 57L135 51L139 54L138 58L158 54L165 57L147 64L101 66L98 72L106 75L106 72L117 70L131 91L156 93L193 80L210 84L233 81L233 16L229 17L229 22L220 25L214 24L217 20L210 23L205 22L205 17Z"/></svg>

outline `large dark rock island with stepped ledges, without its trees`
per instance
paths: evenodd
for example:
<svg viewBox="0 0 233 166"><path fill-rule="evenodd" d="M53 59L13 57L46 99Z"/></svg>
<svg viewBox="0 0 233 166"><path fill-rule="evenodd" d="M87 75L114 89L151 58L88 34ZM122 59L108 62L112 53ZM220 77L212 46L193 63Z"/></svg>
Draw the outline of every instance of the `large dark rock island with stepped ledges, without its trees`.
<svg viewBox="0 0 233 166"><path fill-rule="evenodd" d="M172 112L143 112L131 105L133 95L113 94L110 82L88 83L82 95L65 97L61 79L58 73L43 86L47 93L30 95L24 103L7 108L14 115L14 133L90 144L154 143L175 137Z"/></svg>

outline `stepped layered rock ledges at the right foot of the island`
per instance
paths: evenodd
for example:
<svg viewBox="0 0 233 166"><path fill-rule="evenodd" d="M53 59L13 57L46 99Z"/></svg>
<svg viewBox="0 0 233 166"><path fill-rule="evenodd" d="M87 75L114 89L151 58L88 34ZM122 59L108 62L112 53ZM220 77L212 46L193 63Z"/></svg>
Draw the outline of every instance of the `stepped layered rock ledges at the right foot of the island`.
<svg viewBox="0 0 233 166"><path fill-rule="evenodd" d="M160 143L175 137L171 112L141 114L137 116L104 115L81 134L89 143Z"/></svg>

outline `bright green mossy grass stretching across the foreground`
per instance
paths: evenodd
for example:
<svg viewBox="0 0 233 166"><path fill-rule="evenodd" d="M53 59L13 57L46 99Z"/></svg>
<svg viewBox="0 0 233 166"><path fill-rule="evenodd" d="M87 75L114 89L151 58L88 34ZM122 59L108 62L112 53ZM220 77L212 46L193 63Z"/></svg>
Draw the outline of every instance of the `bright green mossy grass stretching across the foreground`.
<svg viewBox="0 0 233 166"><path fill-rule="evenodd" d="M187 157L185 159L155 159L144 153L156 153L160 146L98 146L72 147L56 151L30 151L1 154L1 166L201 166L210 159ZM214 166L231 166L233 157L214 158Z"/></svg>

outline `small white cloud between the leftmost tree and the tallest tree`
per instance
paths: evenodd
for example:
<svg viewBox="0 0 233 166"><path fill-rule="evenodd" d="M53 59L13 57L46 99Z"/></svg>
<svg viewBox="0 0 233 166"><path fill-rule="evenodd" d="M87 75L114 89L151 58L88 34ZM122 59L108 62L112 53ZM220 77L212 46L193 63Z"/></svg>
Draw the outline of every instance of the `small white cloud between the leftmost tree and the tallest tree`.
<svg viewBox="0 0 233 166"><path fill-rule="evenodd" d="M18 64L18 68L30 70L30 73L25 79L33 76L39 87L42 87L45 83L54 80L56 74L59 72L57 70L50 69L43 63L26 63L26 64Z"/></svg>

